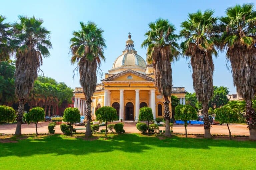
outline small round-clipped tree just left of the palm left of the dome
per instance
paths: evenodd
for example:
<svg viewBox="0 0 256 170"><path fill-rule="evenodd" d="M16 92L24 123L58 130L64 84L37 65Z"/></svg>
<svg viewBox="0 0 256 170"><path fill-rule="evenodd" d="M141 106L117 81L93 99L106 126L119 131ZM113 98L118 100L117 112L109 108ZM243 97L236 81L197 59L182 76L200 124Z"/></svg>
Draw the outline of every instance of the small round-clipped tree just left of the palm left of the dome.
<svg viewBox="0 0 256 170"><path fill-rule="evenodd" d="M76 122L80 122L80 111L77 108L66 108L64 110L63 122L68 122L70 129L70 136L72 136L73 132L73 124Z"/></svg>

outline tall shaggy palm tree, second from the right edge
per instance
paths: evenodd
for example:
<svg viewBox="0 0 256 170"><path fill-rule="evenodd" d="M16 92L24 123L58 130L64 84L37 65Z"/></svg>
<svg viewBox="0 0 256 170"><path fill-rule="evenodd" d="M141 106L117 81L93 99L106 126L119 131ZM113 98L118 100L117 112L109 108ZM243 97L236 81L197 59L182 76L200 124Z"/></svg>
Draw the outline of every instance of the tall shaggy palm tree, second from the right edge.
<svg viewBox="0 0 256 170"><path fill-rule="evenodd" d="M188 20L181 23L183 30L180 32L180 36L184 40L180 45L182 54L190 57L193 87L197 100L203 106L205 138L211 138L208 103L213 96L214 65L212 55L217 56L217 51L214 48L213 28L218 18L213 17L213 13L213 10L206 10L204 13L198 11L188 14Z"/></svg>

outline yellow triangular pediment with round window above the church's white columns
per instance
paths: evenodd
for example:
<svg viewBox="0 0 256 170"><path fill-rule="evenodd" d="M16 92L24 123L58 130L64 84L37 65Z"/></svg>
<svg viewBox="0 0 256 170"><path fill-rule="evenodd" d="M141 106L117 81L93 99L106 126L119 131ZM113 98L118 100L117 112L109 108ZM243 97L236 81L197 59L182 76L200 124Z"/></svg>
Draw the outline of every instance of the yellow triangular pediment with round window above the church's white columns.
<svg viewBox="0 0 256 170"><path fill-rule="evenodd" d="M131 79L129 79L129 78L131 78ZM145 74L128 69L128 70L122 71L120 73L110 75L108 78L105 78L101 81L102 82L106 82L106 81L151 81L151 82L154 82L154 79Z"/></svg>

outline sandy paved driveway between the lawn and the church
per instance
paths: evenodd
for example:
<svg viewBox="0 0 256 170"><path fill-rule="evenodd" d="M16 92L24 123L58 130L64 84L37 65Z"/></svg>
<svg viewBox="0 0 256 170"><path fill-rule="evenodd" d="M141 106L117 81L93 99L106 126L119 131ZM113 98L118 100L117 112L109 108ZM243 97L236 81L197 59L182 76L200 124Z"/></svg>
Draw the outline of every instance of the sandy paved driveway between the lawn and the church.
<svg viewBox="0 0 256 170"><path fill-rule="evenodd" d="M49 122L40 122L38 123L38 133L48 133L48 124ZM246 128L247 125L240 125L240 124L234 124L230 125L231 133L234 135L249 135L249 129ZM84 128L84 126L74 126L74 128ZM100 129L105 128L101 127ZM164 127L159 127L161 130L164 129ZM14 134L16 129L16 124L11 125L0 125L0 133L5 134ZM60 130L60 125L57 125L55 128L55 133L62 133ZM125 126L124 127L125 132L129 133L138 133L139 131L135 126ZM31 134L35 133L35 124L22 124L22 133L23 134ZM77 130L77 132L85 132L85 130ZM185 133L185 128L183 125L174 125L173 132L176 133ZM189 125L187 127L188 133L204 133L204 127L203 126L197 126L197 125ZM229 134L228 128L226 125L212 125L211 128L212 134Z"/></svg>

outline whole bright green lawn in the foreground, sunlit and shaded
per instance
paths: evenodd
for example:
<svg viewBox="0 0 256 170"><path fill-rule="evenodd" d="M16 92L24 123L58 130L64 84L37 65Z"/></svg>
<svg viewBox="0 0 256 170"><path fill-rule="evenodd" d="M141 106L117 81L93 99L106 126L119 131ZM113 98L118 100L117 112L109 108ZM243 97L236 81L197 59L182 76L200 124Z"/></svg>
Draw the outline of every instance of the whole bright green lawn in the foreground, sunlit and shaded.
<svg viewBox="0 0 256 170"><path fill-rule="evenodd" d="M177 136L160 140L141 134L100 134L85 140L55 134L0 143L1 170L171 168L256 169L256 142Z"/></svg>

